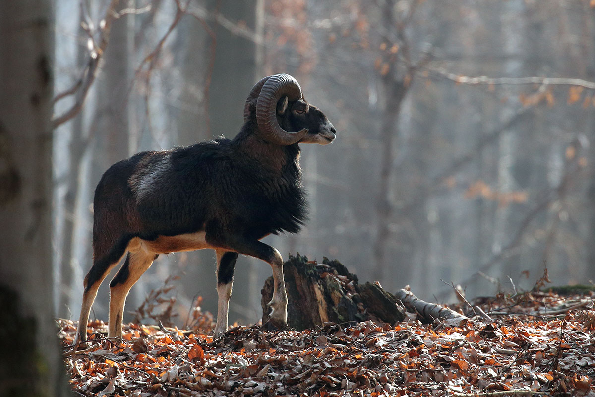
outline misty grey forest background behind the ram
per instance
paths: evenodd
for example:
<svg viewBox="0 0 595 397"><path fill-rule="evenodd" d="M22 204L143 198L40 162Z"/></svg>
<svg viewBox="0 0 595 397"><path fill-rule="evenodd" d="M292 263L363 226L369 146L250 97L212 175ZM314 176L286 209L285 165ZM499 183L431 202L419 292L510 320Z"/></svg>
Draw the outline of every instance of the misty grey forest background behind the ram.
<svg viewBox="0 0 595 397"><path fill-rule="evenodd" d="M302 145L311 218L265 241L362 281L453 300L595 280L595 1L56 0L54 298L77 320L92 196L112 163L239 131L250 88L289 73L337 129ZM84 99L84 102L83 102ZM181 326L216 312L210 250L161 255ZM236 266L230 320L261 317L270 267ZM444 280L444 282L442 281ZM108 282L94 315L107 320ZM92 313L93 316L93 313ZM125 317L130 321L131 317Z"/></svg>

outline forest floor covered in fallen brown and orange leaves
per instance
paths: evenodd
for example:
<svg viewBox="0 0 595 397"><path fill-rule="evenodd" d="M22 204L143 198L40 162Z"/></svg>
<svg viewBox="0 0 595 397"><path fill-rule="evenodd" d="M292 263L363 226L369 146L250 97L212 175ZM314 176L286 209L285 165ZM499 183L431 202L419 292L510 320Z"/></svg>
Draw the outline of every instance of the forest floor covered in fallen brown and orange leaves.
<svg viewBox="0 0 595 397"><path fill-rule="evenodd" d="M131 323L108 340L93 321L74 351L76 324L58 320L58 336L83 396L595 396L594 299L500 294L472 302L483 313L466 312L461 326L409 313L303 332L239 326L213 340Z"/></svg>

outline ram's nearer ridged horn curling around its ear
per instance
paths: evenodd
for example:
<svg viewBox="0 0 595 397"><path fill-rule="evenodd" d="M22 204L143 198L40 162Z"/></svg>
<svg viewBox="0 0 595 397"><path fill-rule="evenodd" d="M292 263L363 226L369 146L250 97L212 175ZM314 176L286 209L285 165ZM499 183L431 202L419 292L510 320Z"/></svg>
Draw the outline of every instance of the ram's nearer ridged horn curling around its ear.
<svg viewBox="0 0 595 397"><path fill-rule="evenodd" d="M302 99L302 89L289 74L270 76L262 86L256 102L256 121L262 139L287 146L302 139L308 133L308 129L289 132L281 128L277 122L277 101L282 96L287 96L290 101Z"/></svg>

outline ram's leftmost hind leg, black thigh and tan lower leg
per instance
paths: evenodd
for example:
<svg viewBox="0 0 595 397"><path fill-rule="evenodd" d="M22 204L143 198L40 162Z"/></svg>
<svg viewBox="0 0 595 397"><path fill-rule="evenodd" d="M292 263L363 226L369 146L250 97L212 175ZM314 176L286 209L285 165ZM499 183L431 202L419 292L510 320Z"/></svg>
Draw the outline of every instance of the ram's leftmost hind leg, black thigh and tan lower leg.
<svg viewBox="0 0 595 397"><path fill-rule="evenodd" d="M87 340L89 312L93 306L93 301L95 301L95 296L97 296L97 290L112 268L120 262L123 255L124 250L122 249L121 252L113 255L112 260L109 260L109 258L101 258L94 261L89 273L84 277L83 304L80 308L79 327L77 328L74 343L80 343Z"/></svg>

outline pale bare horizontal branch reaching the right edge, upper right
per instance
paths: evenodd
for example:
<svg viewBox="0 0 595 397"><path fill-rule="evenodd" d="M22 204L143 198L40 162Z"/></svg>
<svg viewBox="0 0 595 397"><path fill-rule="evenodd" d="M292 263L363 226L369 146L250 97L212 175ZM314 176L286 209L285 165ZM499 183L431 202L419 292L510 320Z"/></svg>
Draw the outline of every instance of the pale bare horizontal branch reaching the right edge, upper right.
<svg viewBox="0 0 595 397"><path fill-rule="evenodd" d="M583 79L565 79L563 77L469 77L450 73L444 68L425 68L430 74L444 77L455 83L465 85L528 85L540 84L545 86L578 86L595 90L595 82L589 82Z"/></svg>

